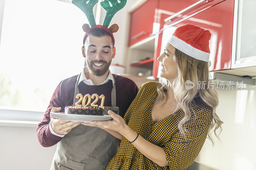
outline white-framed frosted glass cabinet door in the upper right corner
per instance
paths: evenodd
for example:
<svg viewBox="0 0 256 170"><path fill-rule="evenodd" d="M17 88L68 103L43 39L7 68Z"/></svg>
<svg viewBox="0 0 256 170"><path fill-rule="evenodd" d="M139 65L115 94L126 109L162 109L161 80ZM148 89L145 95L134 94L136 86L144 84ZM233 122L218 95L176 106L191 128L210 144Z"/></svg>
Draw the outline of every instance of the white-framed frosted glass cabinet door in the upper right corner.
<svg viewBox="0 0 256 170"><path fill-rule="evenodd" d="M236 53L232 56L232 68L256 65L256 1L237 1ZM236 19L236 16L235 16ZM237 22L236 22L237 21ZM235 50L235 49L234 49Z"/></svg>

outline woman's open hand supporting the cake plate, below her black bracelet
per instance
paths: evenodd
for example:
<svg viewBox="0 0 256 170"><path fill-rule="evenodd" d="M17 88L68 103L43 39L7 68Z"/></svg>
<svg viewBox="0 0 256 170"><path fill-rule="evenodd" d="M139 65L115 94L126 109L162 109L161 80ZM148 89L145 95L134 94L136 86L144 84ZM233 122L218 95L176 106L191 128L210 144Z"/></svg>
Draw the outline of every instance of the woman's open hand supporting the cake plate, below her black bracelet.
<svg viewBox="0 0 256 170"><path fill-rule="evenodd" d="M121 116L116 115L111 110L108 110L108 115L110 115L113 119L109 121L92 121L91 123L88 123L88 124L98 126L99 128L103 127L105 129L114 130L122 134L125 131L125 128L128 127L124 122L124 119Z"/></svg>

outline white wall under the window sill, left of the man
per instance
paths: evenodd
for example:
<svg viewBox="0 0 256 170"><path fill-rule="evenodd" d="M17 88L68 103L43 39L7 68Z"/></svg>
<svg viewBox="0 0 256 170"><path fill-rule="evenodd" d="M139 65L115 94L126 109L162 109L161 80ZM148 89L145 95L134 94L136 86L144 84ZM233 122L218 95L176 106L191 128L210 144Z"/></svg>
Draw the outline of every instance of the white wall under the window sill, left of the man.
<svg viewBox="0 0 256 170"><path fill-rule="evenodd" d="M33 127L0 126L0 170L50 169L56 146L44 148Z"/></svg>

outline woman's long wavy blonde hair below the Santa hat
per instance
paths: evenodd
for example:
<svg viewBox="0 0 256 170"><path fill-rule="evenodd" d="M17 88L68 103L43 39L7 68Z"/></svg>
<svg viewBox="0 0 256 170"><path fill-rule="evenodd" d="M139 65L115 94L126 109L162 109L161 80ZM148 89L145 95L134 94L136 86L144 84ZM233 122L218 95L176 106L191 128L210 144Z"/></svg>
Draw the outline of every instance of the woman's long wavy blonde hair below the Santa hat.
<svg viewBox="0 0 256 170"><path fill-rule="evenodd" d="M212 132L214 132L215 136L219 139L220 132L222 131L221 124L223 122L216 114L216 107L219 104L218 93L215 88L207 88L209 84L208 63L205 61L197 60L176 48L173 59L178 65L177 76L172 81L172 84L167 80L165 84L157 88L157 94L159 98L158 100L156 100L156 102L164 100L165 103L167 101L168 89L173 89L175 100L178 102L179 107L185 113L184 118L178 124L178 128L181 134L186 138L186 129L184 128L184 124L191 118L192 115L189 111L189 106L191 106L192 100L195 97L199 96L201 100L204 101L204 103L212 107L213 119L210 124L207 137L211 140L212 145L214 145ZM186 90L186 80L192 81L195 84L196 88ZM205 82L205 88L197 89L198 82ZM213 128L214 130L212 130ZM218 129L220 129L219 133Z"/></svg>

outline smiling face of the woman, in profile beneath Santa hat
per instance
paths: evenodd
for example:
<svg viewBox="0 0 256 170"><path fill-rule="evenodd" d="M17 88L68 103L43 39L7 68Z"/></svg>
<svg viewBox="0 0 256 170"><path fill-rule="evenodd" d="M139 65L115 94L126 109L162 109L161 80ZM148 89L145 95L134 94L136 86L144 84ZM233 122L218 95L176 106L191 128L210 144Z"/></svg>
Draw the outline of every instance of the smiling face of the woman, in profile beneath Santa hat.
<svg viewBox="0 0 256 170"><path fill-rule="evenodd" d="M174 52L175 47L173 47L172 44L167 43L164 48L164 53L157 58L161 66L160 76L166 78L170 82L176 78L178 73L178 66L173 59Z"/></svg>

